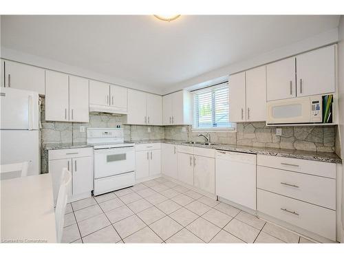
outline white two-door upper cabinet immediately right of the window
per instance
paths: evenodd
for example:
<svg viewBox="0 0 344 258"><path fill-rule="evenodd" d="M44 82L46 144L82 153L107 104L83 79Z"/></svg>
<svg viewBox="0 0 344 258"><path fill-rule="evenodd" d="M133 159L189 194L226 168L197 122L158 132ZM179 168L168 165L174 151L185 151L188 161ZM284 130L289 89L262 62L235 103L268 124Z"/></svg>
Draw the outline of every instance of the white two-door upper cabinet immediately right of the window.
<svg viewBox="0 0 344 258"><path fill-rule="evenodd" d="M266 120L266 66L229 77L230 122Z"/></svg>

